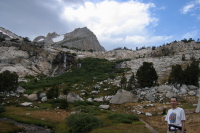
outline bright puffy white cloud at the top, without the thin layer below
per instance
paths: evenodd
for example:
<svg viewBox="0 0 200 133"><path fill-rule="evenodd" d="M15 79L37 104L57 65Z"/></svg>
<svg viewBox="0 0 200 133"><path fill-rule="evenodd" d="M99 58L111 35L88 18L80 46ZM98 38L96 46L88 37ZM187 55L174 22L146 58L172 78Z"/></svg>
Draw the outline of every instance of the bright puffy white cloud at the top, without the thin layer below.
<svg viewBox="0 0 200 133"><path fill-rule="evenodd" d="M154 5L135 1L119 3L107 0L96 4L85 2L84 6L78 8L66 7L63 18L86 25L97 36L142 34L146 26L156 21L148 12L150 7Z"/></svg>

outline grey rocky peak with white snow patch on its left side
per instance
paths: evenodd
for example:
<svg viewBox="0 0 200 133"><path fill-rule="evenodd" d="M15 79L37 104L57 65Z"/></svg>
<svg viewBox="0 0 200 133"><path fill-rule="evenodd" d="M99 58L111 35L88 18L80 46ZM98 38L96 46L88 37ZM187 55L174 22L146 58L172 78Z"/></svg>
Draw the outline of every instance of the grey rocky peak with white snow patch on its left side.
<svg viewBox="0 0 200 133"><path fill-rule="evenodd" d="M33 41L54 47L69 47L85 51L105 51L99 44L96 35L87 27L77 28L63 35L59 35L56 32L48 33L46 37L38 36Z"/></svg>

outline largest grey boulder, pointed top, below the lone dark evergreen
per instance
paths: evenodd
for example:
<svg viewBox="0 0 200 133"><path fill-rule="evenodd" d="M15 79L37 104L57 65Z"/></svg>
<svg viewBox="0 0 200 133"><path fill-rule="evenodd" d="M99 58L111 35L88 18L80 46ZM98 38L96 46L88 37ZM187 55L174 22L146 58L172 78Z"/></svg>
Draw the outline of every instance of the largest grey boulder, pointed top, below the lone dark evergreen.
<svg viewBox="0 0 200 133"><path fill-rule="evenodd" d="M112 97L112 99L110 100L110 103L112 103L112 104L123 104L123 103L137 102L137 101L138 101L138 97L136 95L134 95L130 91L120 89Z"/></svg>

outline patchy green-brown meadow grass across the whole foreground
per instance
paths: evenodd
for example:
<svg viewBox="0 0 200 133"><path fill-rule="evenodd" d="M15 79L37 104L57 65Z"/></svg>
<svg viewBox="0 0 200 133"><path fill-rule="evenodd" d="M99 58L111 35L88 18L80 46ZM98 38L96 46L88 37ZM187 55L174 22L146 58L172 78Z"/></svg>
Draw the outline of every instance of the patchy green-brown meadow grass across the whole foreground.
<svg viewBox="0 0 200 133"><path fill-rule="evenodd" d="M196 103L195 100L197 101L197 99L190 98L188 101L181 101L181 107L185 110L195 110L196 107L192 106L192 103ZM9 99L9 101L12 100ZM21 103L24 99L18 98L13 101ZM134 110L138 104L145 106L147 103L148 102L143 101L143 103L126 103L122 105L111 104L110 110L101 110L98 108L99 103L84 101L69 104L69 110L60 110L52 108L51 103L38 103L37 101L34 101L33 107L17 107L14 103L5 106L6 111L2 112L0 116L28 124L51 127L55 133L69 133L69 127L66 124L66 117L70 115L70 112L79 111L81 109L81 112L93 114L95 117L103 121L103 126L92 130L91 133L150 133L145 127L145 124L137 119L138 117L143 119L158 132L166 132L166 122L164 121L163 115L157 114L151 117L139 115L132 118L133 113L130 111ZM38 108L34 108L35 106ZM151 112L157 110L158 107L163 106L162 103L155 103L154 107L143 108L143 111ZM170 105L166 106L168 110ZM160 110L160 112L162 112L162 110ZM186 116L188 118L188 131L195 133L191 127L195 126L194 129L198 130L198 126L196 125L200 123L199 114L186 114ZM4 127L3 124L5 123L0 123L0 132L1 128ZM10 132L12 124L6 123L5 127L7 128L5 128L4 131L6 130L5 132ZM18 128L12 130L18 130Z"/></svg>

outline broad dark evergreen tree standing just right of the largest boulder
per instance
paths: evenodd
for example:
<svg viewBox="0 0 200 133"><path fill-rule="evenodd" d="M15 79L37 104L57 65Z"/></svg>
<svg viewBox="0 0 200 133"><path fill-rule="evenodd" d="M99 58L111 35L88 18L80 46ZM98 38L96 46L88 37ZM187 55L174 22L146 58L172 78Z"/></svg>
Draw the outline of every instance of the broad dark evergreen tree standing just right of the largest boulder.
<svg viewBox="0 0 200 133"><path fill-rule="evenodd" d="M152 62L143 62L136 73L138 87L155 86L158 80L157 72Z"/></svg>

